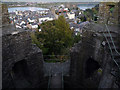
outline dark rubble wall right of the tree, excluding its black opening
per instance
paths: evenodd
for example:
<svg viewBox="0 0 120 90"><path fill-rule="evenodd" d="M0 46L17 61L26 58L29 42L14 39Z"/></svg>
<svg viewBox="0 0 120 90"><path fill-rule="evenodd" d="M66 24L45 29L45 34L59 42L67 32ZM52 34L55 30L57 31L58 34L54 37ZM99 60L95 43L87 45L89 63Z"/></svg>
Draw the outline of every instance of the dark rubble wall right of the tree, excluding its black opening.
<svg viewBox="0 0 120 90"><path fill-rule="evenodd" d="M89 83L93 84L92 86L97 87L99 85L100 76L97 73L94 76L91 76L92 82L85 77L86 61L92 57L101 65L103 62L102 58L104 58L104 51L101 46L103 38L101 37L102 35L96 34L97 30L94 28L95 27L93 27L92 24L88 25L84 29L85 32L83 33L82 40L74 45L71 50L70 76L72 81L86 83L86 85L88 84L88 87Z"/></svg>

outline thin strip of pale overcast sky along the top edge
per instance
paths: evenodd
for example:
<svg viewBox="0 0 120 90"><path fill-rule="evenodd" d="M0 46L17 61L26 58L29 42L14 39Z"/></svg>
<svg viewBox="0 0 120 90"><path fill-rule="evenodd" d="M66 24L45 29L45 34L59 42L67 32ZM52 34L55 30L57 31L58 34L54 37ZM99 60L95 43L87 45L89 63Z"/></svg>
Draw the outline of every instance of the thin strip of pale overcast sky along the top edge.
<svg viewBox="0 0 120 90"><path fill-rule="evenodd" d="M100 1L120 1L120 0L1 0L5 2L100 2Z"/></svg>

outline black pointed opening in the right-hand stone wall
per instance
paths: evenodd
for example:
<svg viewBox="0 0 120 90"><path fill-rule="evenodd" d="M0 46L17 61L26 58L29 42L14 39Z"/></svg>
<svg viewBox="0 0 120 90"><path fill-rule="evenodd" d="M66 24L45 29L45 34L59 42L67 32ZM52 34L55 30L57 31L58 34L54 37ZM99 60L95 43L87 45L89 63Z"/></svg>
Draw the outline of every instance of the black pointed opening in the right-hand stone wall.
<svg viewBox="0 0 120 90"><path fill-rule="evenodd" d="M94 71L100 68L100 65L93 58L88 58L85 63L85 77L89 78L92 76Z"/></svg>

